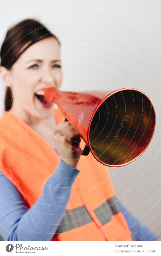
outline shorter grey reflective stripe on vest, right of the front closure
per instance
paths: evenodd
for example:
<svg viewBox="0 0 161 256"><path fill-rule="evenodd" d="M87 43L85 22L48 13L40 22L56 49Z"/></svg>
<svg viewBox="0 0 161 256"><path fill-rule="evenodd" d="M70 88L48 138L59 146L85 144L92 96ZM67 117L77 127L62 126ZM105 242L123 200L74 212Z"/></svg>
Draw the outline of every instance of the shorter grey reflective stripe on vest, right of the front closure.
<svg viewBox="0 0 161 256"><path fill-rule="evenodd" d="M109 200L106 200L104 204L101 204L94 210L94 213L102 225L105 225L107 222L109 222L111 220L111 216L118 212L120 212L120 210L116 197L112 197Z"/></svg>

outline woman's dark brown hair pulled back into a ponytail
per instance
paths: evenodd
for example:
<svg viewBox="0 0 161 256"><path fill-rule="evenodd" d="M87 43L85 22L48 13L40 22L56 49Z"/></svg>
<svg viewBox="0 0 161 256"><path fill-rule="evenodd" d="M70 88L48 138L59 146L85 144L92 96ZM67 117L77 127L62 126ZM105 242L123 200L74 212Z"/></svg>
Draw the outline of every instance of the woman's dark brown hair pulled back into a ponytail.
<svg viewBox="0 0 161 256"><path fill-rule="evenodd" d="M11 27L2 43L0 57L1 66L9 69L30 45L44 38L53 36L59 43L58 38L52 34L42 23L33 19L25 19ZM12 92L6 87L5 110L12 106Z"/></svg>

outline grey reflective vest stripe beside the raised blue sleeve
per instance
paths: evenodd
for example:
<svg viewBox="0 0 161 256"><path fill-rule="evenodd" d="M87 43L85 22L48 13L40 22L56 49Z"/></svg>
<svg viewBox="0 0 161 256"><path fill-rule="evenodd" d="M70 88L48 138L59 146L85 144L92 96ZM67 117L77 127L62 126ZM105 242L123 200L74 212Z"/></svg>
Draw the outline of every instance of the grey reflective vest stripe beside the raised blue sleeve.
<svg viewBox="0 0 161 256"><path fill-rule="evenodd" d="M92 221L93 220L84 205L72 210L65 210L62 222L58 226L58 229L56 230L56 233L53 237L70 229L88 224Z"/></svg>

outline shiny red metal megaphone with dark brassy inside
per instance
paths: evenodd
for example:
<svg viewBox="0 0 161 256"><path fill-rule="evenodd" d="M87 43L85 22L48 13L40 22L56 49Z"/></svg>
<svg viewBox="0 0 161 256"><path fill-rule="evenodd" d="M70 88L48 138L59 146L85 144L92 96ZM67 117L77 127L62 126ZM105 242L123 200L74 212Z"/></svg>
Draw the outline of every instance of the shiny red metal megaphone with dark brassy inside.
<svg viewBox="0 0 161 256"><path fill-rule="evenodd" d="M57 104L85 141L82 153L87 155L90 150L106 166L131 163L146 150L153 137L155 109L140 90L67 92L51 87L45 90L44 98Z"/></svg>

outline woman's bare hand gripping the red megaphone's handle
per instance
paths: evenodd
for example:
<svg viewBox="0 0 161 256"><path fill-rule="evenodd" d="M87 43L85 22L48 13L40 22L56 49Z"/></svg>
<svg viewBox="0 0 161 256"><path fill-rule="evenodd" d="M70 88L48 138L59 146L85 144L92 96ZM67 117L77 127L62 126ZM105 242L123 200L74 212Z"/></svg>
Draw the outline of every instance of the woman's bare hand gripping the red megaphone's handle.
<svg viewBox="0 0 161 256"><path fill-rule="evenodd" d="M53 140L60 159L76 168L80 155L72 144L74 142L76 147L79 146L81 138L73 126L68 121L56 125L53 131Z"/></svg>

